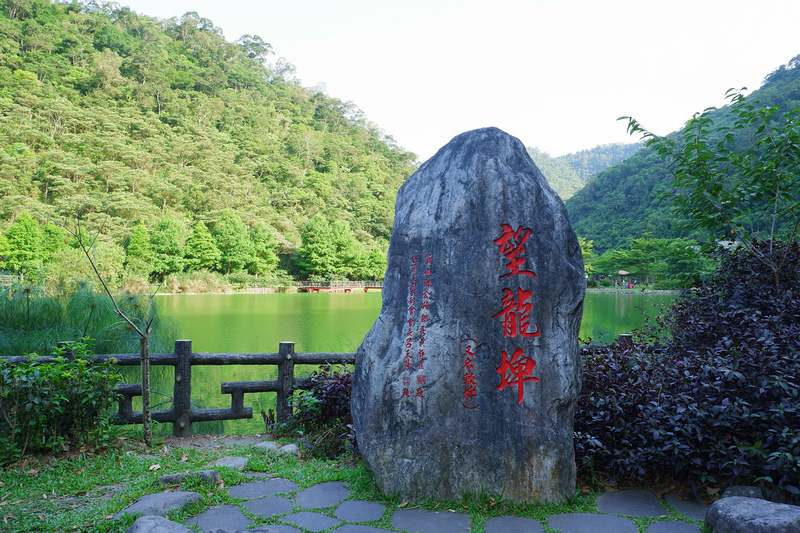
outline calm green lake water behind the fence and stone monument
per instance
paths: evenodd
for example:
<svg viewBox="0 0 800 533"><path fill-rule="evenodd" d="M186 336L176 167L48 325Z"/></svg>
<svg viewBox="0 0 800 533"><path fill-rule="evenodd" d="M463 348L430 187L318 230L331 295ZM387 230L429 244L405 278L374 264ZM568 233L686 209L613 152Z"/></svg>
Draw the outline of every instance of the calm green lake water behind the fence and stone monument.
<svg viewBox="0 0 800 533"><path fill-rule="evenodd" d="M580 338L613 341L619 333L641 326L646 315L654 316L675 297L638 291L588 293ZM179 323L180 338L192 341L193 352L277 352L282 341L293 341L298 352L355 352L380 312L381 293L192 294L157 296L156 303L163 316ZM296 375L309 370L298 368ZM221 382L276 376L277 367L193 366L192 399L196 407L230 407L230 395L220 393ZM172 379L171 367L154 367L153 387L161 391L153 397L155 408L170 407ZM253 419L195 424L193 431L263 433L260 412L274 409L275 394L246 394L245 406L253 407ZM165 433L171 433L168 426Z"/></svg>

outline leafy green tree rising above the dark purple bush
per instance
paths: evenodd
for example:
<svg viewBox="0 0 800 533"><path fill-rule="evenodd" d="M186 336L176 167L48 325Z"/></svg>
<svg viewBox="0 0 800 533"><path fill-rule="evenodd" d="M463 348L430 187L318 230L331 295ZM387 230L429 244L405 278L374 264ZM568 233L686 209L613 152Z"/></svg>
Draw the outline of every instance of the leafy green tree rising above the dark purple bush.
<svg viewBox="0 0 800 533"><path fill-rule="evenodd" d="M707 109L687 123L678 140L656 135L632 117L622 119L631 134L640 134L670 162L673 190L663 196L688 217L686 225L713 231L720 239L736 238L772 270L777 287L786 249L773 253L770 247L764 253L754 238L772 242L797 236L800 109L781 112L734 89L727 97L732 125L715 123L713 109Z"/></svg>

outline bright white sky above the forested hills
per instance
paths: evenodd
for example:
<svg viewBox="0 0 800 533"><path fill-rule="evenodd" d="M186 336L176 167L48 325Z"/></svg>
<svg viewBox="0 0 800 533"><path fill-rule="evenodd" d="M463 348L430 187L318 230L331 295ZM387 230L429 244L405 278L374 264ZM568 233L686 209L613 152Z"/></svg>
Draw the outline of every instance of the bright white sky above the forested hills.
<svg viewBox="0 0 800 533"><path fill-rule="evenodd" d="M496 126L558 156L666 134L800 54L798 0L122 0L259 35L425 161Z"/></svg>

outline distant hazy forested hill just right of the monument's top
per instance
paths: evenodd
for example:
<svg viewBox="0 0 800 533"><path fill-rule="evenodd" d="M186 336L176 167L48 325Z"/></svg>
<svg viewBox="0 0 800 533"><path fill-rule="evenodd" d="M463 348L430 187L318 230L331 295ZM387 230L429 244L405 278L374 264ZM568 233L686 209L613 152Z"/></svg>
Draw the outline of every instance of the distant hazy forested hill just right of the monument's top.
<svg viewBox="0 0 800 533"><path fill-rule="evenodd" d="M539 167L550 186L562 200L571 198L598 172L633 155L641 143L604 144L574 154L550 157L537 148L528 148L528 154Z"/></svg>

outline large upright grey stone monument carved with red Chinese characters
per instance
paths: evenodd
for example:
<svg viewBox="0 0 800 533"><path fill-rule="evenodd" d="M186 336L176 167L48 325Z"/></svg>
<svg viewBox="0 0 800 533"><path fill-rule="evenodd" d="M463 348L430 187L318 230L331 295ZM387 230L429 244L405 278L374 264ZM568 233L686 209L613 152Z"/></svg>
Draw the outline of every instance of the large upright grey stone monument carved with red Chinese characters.
<svg viewBox="0 0 800 533"><path fill-rule="evenodd" d="M454 138L400 188L381 313L352 410L402 498L574 494L583 259L564 204L497 128Z"/></svg>

